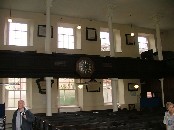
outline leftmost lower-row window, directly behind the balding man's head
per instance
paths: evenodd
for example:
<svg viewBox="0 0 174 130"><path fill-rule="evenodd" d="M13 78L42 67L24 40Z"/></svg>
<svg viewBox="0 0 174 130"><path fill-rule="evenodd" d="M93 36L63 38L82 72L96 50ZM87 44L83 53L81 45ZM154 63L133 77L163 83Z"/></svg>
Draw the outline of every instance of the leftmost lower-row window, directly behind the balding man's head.
<svg viewBox="0 0 174 130"><path fill-rule="evenodd" d="M5 86L7 108L17 108L18 101L26 102L26 78L8 78L8 85Z"/></svg>

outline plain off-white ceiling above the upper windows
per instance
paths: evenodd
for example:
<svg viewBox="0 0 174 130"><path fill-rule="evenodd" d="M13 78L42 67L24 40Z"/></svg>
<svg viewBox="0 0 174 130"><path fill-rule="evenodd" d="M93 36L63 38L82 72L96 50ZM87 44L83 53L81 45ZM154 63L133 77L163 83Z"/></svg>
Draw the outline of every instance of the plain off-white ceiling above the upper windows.
<svg viewBox="0 0 174 130"><path fill-rule="evenodd" d="M158 15L161 29L174 29L174 0L53 0L51 14L107 22L108 1L113 23L155 28ZM0 0L0 8L45 13L46 0Z"/></svg>

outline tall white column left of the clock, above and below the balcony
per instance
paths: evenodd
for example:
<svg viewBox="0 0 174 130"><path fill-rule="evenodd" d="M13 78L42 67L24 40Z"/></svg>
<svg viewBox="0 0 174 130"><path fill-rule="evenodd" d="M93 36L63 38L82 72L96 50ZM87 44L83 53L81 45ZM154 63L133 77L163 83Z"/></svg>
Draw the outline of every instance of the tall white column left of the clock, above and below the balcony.
<svg viewBox="0 0 174 130"><path fill-rule="evenodd" d="M51 24L50 24L50 7L52 5L52 0L46 0L46 38L45 38L45 53L51 53ZM52 116L51 112L51 79L52 77L46 77L46 116Z"/></svg>

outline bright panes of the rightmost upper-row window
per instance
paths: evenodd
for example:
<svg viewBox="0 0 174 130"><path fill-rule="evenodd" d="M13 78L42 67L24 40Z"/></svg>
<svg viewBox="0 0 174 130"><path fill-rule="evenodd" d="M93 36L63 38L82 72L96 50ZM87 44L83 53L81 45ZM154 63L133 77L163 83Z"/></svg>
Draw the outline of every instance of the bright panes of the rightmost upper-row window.
<svg viewBox="0 0 174 130"><path fill-rule="evenodd" d="M138 37L139 54L148 51L148 40L146 37Z"/></svg>

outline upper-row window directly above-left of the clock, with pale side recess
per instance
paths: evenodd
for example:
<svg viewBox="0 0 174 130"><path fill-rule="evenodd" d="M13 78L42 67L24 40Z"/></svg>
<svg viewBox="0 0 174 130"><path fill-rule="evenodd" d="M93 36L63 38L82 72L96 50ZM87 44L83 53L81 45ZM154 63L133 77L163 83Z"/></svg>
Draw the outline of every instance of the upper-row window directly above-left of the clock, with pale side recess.
<svg viewBox="0 0 174 130"><path fill-rule="evenodd" d="M81 49L81 30L77 29L77 25L59 24L57 47Z"/></svg>

